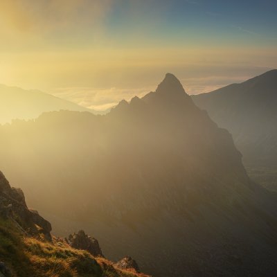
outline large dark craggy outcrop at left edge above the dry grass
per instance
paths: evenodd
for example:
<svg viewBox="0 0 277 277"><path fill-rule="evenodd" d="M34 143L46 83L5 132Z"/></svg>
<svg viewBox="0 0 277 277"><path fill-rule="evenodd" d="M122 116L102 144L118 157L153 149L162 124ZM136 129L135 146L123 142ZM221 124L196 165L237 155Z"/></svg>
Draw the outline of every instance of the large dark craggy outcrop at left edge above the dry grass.
<svg viewBox="0 0 277 277"><path fill-rule="evenodd" d="M9 217L17 222L22 231L31 235L43 233L48 240L51 240L51 224L37 212L28 209L23 191L11 188L2 172L0 172L0 213L3 217Z"/></svg>

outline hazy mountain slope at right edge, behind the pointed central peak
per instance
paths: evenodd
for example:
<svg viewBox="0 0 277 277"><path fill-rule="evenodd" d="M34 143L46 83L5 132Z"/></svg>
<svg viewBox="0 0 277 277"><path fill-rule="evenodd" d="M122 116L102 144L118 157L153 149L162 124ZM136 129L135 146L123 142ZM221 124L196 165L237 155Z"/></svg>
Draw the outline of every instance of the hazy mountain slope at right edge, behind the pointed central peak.
<svg viewBox="0 0 277 277"><path fill-rule="evenodd" d="M231 132L251 177L277 188L277 70L193 100Z"/></svg>

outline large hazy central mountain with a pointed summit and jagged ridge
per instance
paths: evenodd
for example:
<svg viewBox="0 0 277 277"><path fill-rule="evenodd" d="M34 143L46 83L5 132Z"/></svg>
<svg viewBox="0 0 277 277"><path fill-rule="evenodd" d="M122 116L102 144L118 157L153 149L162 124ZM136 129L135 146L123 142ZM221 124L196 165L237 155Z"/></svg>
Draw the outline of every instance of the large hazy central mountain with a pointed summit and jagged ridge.
<svg viewBox="0 0 277 277"><path fill-rule="evenodd" d="M78 226L154 276L272 276L276 199L172 74L106 116L0 128L0 168L63 235Z"/></svg>

